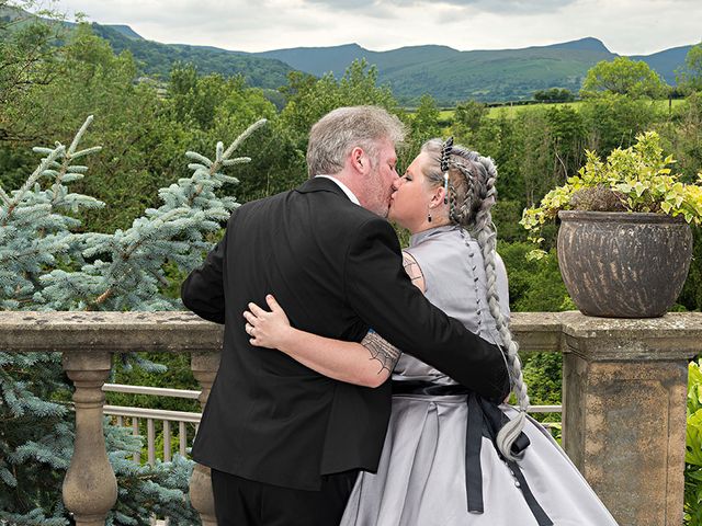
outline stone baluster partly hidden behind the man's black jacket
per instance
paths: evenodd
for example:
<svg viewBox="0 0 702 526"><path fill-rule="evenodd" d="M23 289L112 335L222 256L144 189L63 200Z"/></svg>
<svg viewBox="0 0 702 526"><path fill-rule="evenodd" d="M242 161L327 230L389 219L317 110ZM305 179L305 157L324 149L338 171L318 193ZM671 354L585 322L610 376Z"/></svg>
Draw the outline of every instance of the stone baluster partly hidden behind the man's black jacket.
<svg viewBox="0 0 702 526"><path fill-rule="evenodd" d="M202 387L199 400L203 409L207 403L215 376L217 376L219 357L219 352L193 353L191 357L193 375ZM190 501L200 513L203 526L217 526L215 500L212 494L212 479L210 478L210 468L206 466L196 464L193 469L193 474L190 477Z"/></svg>

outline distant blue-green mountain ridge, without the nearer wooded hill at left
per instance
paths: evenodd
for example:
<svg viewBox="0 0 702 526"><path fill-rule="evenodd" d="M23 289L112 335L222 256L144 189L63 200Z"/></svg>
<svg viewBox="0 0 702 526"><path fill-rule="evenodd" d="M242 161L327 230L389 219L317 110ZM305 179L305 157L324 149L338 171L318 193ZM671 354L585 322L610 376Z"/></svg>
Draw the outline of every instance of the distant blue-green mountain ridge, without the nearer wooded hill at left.
<svg viewBox="0 0 702 526"><path fill-rule="evenodd" d="M667 49L644 60L666 81L673 83L673 71L684 62L690 46ZM412 46L372 52L358 44L336 47L298 47L258 54L278 58L312 75L333 72L340 77L354 59L365 58L378 69L381 82L388 83L395 96L407 105L423 93L440 104L466 99L485 102L531 99L534 91L566 88L577 92L587 71L611 53L597 38L528 47L523 49L458 52L445 46Z"/></svg>

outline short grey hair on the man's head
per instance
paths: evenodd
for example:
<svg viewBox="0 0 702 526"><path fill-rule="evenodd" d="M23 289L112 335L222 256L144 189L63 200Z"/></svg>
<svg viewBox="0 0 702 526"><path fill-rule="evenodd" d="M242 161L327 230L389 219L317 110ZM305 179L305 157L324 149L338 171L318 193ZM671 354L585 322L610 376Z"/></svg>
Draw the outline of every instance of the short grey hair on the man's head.
<svg viewBox="0 0 702 526"><path fill-rule="evenodd" d="M394 146L405 139L405 125L397 116L377 106L338 107L312 127L307 145L309 176L339 173L355 147L363 148L375 164L378 142L384 139Z"/></svg>

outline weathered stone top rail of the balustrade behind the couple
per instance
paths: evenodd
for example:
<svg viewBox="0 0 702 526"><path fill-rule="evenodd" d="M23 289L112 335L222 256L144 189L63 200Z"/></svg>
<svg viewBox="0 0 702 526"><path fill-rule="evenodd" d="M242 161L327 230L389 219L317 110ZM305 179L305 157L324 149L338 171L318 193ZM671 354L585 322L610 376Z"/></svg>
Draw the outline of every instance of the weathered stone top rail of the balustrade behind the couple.
<svg viewBox="0 0 702 526"><path fill-rule="evenodd" d="M669 359L702 352L702 312L653 319L514 312L511 328L522 351L570 352L590 359ZM222 325L188 311L0 312L4 352L212 352L222 348Z"/></svg>

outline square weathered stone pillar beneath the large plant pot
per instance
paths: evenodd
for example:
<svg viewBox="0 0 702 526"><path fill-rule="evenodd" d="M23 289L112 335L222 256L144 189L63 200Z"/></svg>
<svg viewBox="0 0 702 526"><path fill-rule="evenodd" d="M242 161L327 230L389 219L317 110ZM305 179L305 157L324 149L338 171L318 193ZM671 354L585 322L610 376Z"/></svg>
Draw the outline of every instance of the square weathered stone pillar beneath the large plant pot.
<svg viewBox="0 0 702 526"><path fill-rule="evenodd" d="M564 318L564 447L621 526L682 524L687 364L679 318Z"/></svg>

